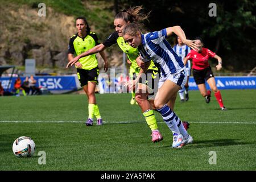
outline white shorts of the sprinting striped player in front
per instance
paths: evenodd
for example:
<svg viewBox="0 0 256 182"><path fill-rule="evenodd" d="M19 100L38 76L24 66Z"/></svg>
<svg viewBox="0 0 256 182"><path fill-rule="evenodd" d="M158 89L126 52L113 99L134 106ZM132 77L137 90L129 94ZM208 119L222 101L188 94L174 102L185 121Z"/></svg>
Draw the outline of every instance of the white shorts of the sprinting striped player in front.
<svg viewBox="0 0 256 182"><path fill-rule="evenodd" d="M160 77L160 80L158 83L158 89L161 88L161 86L164 84L164 81L166 80L175 82L175 84L179 85L180 88L184 88L184 85L187 82L187 78L188 78L188 73L186 69L183 69L183 71L180 71L179 73L173 73L166 77Z"/></svg>

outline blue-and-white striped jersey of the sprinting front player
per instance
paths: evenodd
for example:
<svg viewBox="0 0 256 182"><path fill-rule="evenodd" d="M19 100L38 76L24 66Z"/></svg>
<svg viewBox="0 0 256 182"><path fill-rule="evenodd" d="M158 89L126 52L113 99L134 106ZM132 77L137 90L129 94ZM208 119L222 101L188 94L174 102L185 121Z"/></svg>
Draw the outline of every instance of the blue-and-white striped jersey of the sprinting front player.
<svg viewBox="0 0 256 182"><path fill-rule="evenodd" d="M160 68L162 76L179 73L185 69L183 61L166 40L166 29L142 34L141 37L142 46L138 49L143 61L153 60Z"/></svg>

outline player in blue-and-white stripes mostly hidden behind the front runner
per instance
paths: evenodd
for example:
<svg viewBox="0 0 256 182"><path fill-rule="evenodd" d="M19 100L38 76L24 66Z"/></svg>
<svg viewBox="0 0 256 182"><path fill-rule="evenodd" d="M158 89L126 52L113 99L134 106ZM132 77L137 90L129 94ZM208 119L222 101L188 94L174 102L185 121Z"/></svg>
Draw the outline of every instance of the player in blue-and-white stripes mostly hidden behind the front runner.
<svg viewBox="0 0 256 182"><path fill-rule="evenodd" d="M191 50L190 47L188 47L186 44L184 44L182 42L182 40L180 39L180 37L177 36L177 44L174 46L174 51L177 53L177 55L180 57L180 59L182 61L188 55L190 50ZM179 96L180 96L181 102L188 101L188 81L189 81L189 76L190 76L190 72L191 72L190 60L188 60L187 64L185 64L185 67L187 69L188 78L187 78L187 82L184 85L185 89L182 88L179 90ZM185 100L184 100L184 92L185 92Z"/></svg>

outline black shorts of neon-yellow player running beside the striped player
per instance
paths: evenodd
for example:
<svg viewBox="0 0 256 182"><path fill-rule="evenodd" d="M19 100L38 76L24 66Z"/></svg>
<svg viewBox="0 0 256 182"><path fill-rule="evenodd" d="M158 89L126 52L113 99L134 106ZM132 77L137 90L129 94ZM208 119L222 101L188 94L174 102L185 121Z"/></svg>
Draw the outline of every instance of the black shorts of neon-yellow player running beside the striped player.
<svg viewBox="0 0 256 182"><path fill-rule="evenodd" d="M148 69L146 73L142 73L141 77L139 78L139 83L147 85L151 90L148 98L151 98L151 96L154 96L156 92L158 92L158 82L160 78L160 72L155 71L154 69ZM133 75L133 79L135 80L137 78L137 75Z"/></svg>

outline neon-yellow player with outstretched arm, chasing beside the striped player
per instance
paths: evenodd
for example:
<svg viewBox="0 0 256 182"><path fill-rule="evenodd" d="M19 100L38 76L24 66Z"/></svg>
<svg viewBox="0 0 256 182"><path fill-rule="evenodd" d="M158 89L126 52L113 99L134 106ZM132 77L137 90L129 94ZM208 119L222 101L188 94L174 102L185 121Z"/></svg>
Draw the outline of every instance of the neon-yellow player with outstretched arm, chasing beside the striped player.
<svg viewBox="0 0 256 182"><path fill-rule="evenodd" d="M147 19L147 15L140 13L141 10L142 10L142 6L136 6L136 7L132 7L129 10L123 10L119 12L117 15L115 15L114 17L115 31L113 32L113 34L111 34L103 43L99 44L98 46L95 46L92 49L84 53L81 53L75 58L70 59L69 63L67 64L67 68L69 67L69 65L72 66L73 64L76 64L77 61L80 60L82 57L89 56L94 53L103 51L107 47L110 47L113 44L117 43L119 48L121 48L122 51L126 53L128 59L131 61L131 68L133 68L135 73L138 74L140 72L140 68L136 63L136 58L139 55L139 51L137 48L133 48L129 46L129 44L127 44L123 40L122 30L123 30L123 27L125 27L129 23L142 22L143 20ZM146 75L150 75L152 77L152 82L154 82L154 77L158 76L158 68L154 65L153 61L150 61L150 65L149 65L148 71L146 72ZM158 125L156 123L154 111L152 110L152 109L155 109L154 100L147 100L147 97L149 95L148 92L142 93L141 90L137 90L137 91L138 92L135 94L135 99L138 102L138 105L141 107L141 110L144 118L146 119L147 125L150 127L152 131L152 134L151 134L152 142L159 142L160 140L163 139L163 137L158 130Z"/></svg>

